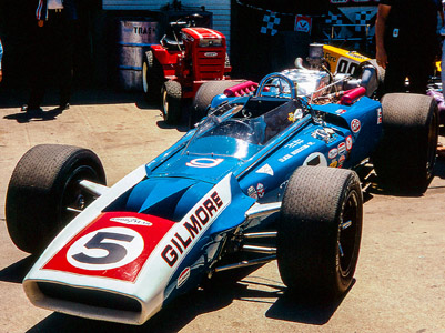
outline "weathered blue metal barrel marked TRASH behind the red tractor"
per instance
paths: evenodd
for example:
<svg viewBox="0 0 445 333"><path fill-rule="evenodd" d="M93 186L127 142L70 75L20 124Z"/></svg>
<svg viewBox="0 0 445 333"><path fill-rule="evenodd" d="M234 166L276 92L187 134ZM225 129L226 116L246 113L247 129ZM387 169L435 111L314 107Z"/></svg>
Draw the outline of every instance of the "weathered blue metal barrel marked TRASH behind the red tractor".
<svg viewBox="0 0 445 333"><path fill-rule="evenodd" d="M119 87L128 91L142 90L143 54L159 43L159 22L151 19L121 19L118 29Z"/></svg>

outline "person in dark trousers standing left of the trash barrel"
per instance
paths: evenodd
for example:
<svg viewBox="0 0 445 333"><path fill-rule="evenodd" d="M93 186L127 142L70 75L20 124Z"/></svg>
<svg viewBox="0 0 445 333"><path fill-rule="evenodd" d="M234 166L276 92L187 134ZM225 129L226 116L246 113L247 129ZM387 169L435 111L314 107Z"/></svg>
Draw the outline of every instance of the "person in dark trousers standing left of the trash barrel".
<svg viewBox="0 0 445 333"><path fill-rule="evenodd" d="M50 81L60 89L60 110L70 107L73 63L73 36L78 19L75 0L38 0L31 57L30 97L21 111L41 110Z"/></svg>

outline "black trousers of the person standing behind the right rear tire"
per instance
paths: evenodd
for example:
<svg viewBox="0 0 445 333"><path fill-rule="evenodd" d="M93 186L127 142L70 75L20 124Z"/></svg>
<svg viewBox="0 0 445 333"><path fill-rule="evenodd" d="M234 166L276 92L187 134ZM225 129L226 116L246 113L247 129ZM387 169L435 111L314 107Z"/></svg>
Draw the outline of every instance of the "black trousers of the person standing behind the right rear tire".
<svg viewBox="0 0 445 333"><path fill-rule="evenodd" d="M414 52L413 52L414 53ZM429 75L434 71L434 56L397 57L388 54L388 64L385 71L384 91L426 93ZM409 87L405 87L405 78L409 80Z"/></svg>

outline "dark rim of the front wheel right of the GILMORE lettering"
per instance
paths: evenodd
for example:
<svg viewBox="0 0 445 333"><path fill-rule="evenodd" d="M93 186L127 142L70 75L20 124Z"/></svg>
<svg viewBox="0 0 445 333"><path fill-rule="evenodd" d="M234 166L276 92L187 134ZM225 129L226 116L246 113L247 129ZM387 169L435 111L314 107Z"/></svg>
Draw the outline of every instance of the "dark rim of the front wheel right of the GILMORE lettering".
<svg viewBox="0 0 445 333"><path fill-rule="evenodd" d="M356 248L356 233L358 221L358 198L352 191L344 204L342 220L338 225L338 266L342 276L347 276L353 268L353 259Z"/></svg>

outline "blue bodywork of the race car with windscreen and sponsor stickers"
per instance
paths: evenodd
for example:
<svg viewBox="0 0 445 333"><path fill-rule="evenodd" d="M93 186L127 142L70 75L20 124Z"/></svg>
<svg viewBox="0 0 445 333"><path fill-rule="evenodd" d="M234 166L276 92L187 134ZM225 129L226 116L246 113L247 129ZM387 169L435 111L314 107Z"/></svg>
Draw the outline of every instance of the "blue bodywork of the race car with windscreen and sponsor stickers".
<svg viewBox="0 0 445 333"><path fill-rule="evenodd" d="M367 97L352 105L309 104L307 98L290 94L215 100L222 103L214 105L212 114L148 163L146 179L120 200L123 211L178 222L232 174L231 204L182 261L165 290L165 301L196 285L234 231L271 220L247 221L245 212L256 202L281 201L295 169L354 169L373 153L382 134L382 105ZM189 268L189 287L176 287L179 275Z"/></svg>

